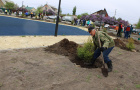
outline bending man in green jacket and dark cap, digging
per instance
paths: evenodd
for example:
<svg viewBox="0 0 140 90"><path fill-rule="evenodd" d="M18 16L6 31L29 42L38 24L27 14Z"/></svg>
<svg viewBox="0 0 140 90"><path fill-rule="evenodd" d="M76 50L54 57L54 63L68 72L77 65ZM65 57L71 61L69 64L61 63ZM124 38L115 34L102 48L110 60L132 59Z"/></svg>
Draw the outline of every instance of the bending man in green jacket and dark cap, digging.
<svg viewBox="0 0 140 90"><path fill-rule="evenodd" d="M96 47L96 50L93 55L92 64L103 52L104 62L108 66L108 72L111 72L113 69L112 61L109 59L108 55L115 46L114 40L105 32L99 31L98 33L93 27L88 28L88 32L93 37L93 42ZM99 47L98 34L101 42L101 47Z"/></svg>

